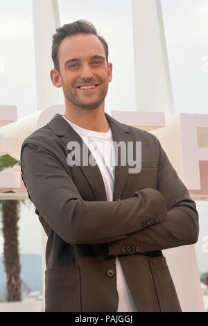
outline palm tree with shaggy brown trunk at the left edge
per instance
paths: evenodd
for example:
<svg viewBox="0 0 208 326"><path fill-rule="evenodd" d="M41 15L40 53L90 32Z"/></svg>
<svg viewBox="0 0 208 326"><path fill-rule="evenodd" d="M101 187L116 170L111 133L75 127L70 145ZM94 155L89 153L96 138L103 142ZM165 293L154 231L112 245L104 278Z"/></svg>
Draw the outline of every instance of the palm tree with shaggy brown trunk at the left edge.
<svg viewBox="0 0 208 326"><path fill-rule="evenodd" d="M20 161L15 160L10 155L0 156L0 171L20 165ZM5 191L14 193L15 191ZM7 300L21 301L21 278L20 278L20 261L19 261L19 241L18 226L19 205L24 200L6 199L0 200L0 209L3 222L3 262L7 277Z"/></svg>

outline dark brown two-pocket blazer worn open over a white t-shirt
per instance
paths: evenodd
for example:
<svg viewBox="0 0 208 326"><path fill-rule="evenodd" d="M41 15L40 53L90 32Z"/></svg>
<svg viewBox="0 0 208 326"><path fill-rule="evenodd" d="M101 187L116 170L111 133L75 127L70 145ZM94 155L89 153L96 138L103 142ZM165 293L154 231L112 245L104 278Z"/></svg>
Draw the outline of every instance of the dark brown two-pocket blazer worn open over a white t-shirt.
<svg viewBox="0 0 208 326"><path fill-rule="evenodd" d="M139 311L181 311L161 250L196 243L196 205L154 135L105 117L114 141L142 146L140 173L116 166L112 202L98 166L67 164L68 142L82 139L60 114L21 146L21 177L48 235L46 311L117 311L115 255Z"/></svg>

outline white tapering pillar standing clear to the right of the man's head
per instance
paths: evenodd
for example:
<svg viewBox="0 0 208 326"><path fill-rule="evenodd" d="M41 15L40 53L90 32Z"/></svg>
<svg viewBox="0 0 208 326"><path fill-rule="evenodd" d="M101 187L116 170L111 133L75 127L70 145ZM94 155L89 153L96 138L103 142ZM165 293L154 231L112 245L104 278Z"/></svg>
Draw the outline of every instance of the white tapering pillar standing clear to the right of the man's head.
<svg viewBox="0 0 208 326"><path fill-rule="evenodd" d="M137 110L175 112L160 0L132 0Z"/></svg>

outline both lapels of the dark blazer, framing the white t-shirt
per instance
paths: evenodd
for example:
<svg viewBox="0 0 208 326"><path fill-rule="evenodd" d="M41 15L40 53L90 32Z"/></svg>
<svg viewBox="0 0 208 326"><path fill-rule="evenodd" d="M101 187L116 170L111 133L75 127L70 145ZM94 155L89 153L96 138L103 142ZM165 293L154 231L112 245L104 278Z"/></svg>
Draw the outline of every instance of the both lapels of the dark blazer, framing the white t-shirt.
<svg viewBox="0 0 208 326"><path fill-rule="evenodd" d="M116 141L118 144L119 141L125 141L125 144L127 146L128 141L132 141L132 136L130 135L130 130L128 126L123 125L119 121L115 120L114 118L110 117L109 114L105 112L105 117L110 125L110 128L112 130L112 138L113 141ZM83 139L78 135L78 133L67 123L65 119L61 116L61 114L57 113L47 123L49 125L49 128L52 130L52 132L60 137L61 141L65 144L67 147L67 144L69 141L78 141L80 144L85 146L83 144ZM118 151L120 153L120 151ZM88 150L89 155L91 154ZM82 162L82 157L81 157ZM118 160L119 162L119 160ZM97 200L107 200L106 198L106 191L105 191L105 185L103 182L103 177L101 175L101 171L98 168L98 165L96 166L79 166L80 169L82 169L85 178L87 178L89 184L92 187L92 190L94 191L94 195L96 196ZM125 166L121 166L118 164L118 166L115 166L115 179L114 179L114 195L113 200L117 200L121 198L123 187L125 185L126 179L128 178L128 162Z"/></svg>

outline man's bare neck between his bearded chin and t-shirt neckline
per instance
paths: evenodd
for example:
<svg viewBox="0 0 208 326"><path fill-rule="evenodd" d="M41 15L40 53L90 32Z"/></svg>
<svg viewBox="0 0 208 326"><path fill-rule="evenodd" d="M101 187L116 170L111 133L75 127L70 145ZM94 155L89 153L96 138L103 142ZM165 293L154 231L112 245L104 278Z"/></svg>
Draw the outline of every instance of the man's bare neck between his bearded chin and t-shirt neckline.
<svg viewBox="0 0 208 326"><path fill-rule="evenodd" d="M110 128L104 113L104 103L96 109L72 108L66 105L64 117L77 126L98 132L107 132Z"/></svg>

